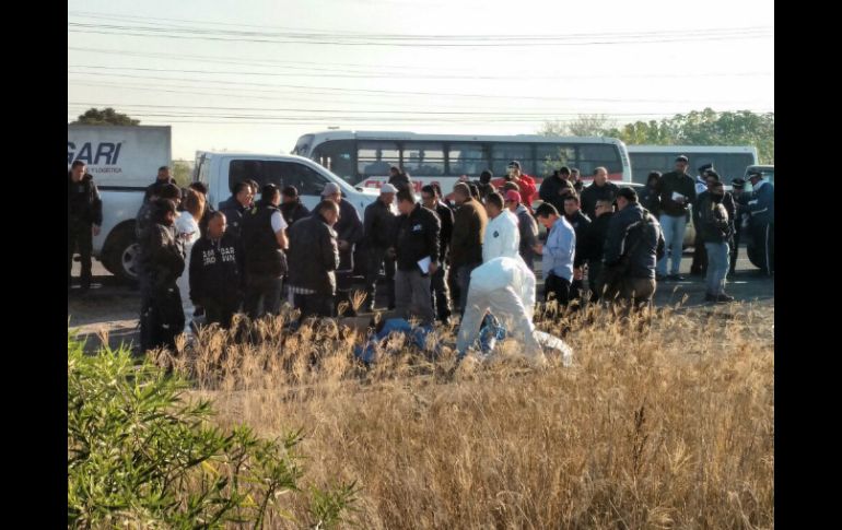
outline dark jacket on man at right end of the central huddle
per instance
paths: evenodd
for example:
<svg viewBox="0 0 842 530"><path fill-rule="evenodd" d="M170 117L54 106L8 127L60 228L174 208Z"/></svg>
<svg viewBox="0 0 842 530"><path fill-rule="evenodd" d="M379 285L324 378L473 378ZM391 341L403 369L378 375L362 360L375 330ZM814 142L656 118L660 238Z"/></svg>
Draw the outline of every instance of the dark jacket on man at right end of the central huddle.
<svg viewBox="0 0 842 530"><path fill-rule="evenodd" d="M646 222L643 222L644 215ZM615 213L608 223L603 262L608 267L618 266L623 256L629 262L625 278L655 278L655 266L664 256L660 224L639 203Z"/></svg>

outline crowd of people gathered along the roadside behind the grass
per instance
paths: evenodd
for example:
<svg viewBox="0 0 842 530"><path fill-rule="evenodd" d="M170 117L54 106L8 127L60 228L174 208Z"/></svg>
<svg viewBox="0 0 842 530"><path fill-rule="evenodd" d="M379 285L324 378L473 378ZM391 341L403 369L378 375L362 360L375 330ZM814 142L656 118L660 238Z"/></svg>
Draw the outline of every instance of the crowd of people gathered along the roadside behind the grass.
<svg viewBox="0 0 842 530"><path fill-rule="evenodd" d="M237 182L214 210L203 184L182 190L162 167L136 223L141 349L174 346L200 316L227 328L238 311L250 319L277 315L284 291L302 319L334 317L340 308L353 314L361 270L365 309L375 310L383 286L386 308L400 318L448 325L456 313L463 350L488 311L521 322L527 335L534 329L537 257L545 302L646 307L658 282L681 279L690 212L694 259L703 261L693 272L706 273L707 301L729 302L725 282L741 233L762 242L765 271L773 272L774 189L751 174L751 193L741 179L726 192L713 167L700 167L694 179L688 166L679 156L675 170L651 174L639 196L608 180L605 167L588 186L565 166L538 187L512 161L504 177L486 170L478 180L463 178L446 198L437 185L424 186L420 200L411 176L393 167L362 219L335 184L312 212L294 187L254 180ZM68 174L68 287L77 248L82 287L90 287L91 240L101 224L96 186L77 161ZM535 348L531 339L526 344Z"/></svg>

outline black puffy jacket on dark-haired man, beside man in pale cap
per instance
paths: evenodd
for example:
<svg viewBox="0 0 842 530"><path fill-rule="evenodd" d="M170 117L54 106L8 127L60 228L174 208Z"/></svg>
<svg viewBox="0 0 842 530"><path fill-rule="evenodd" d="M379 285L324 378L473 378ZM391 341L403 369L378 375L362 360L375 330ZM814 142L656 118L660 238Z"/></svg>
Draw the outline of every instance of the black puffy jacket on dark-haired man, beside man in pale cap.
<svg viewBox="0 0 842 530"><path fill-rule="evenodd" d="M336 294L337 234L317 212L290 226L289 283L320 295Z"/></svg>

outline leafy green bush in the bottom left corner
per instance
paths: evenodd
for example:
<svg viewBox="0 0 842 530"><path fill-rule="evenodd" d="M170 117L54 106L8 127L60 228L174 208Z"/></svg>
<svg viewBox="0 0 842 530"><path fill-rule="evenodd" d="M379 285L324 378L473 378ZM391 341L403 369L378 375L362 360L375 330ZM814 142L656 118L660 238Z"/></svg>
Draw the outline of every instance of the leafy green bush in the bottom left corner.
<svg viewBox="0 0 842 530"><path fill-rule="evenodd" d="M127 349L85 355L68 335L68 527L261 528L270 514L301 526L277 500L303 495L300 433L267 440L213 427L209 401ZM342 521L353 484L311 487L306 525Z"/></svg>

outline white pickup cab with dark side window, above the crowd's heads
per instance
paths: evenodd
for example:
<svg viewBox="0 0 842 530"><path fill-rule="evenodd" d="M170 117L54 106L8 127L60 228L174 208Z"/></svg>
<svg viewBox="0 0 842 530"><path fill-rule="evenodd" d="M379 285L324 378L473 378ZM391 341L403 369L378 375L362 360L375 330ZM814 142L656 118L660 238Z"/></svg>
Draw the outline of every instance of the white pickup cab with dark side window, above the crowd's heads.
<svg viewBox="0 0 842 530"><path fill-rule="evenodd" d="M349 201L363 219L365 207L374 202L376 189L353 187L316 162L295 155L254 153L196 152L194 181L208 187L208 200L213 208L231 197L237 182L253 179L258 185L273 184L283 189L294 186L301 202L311 211L321 201L321 190L335 182L342 190L342 200Z"/></svg>

